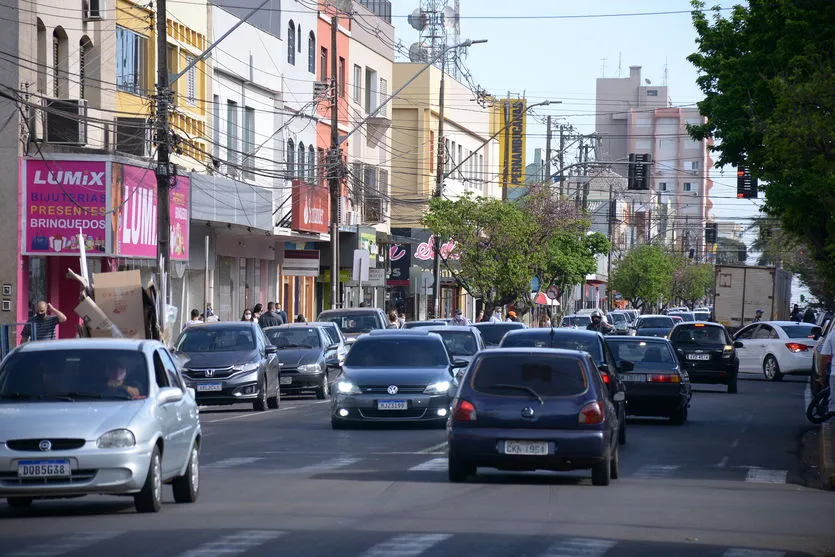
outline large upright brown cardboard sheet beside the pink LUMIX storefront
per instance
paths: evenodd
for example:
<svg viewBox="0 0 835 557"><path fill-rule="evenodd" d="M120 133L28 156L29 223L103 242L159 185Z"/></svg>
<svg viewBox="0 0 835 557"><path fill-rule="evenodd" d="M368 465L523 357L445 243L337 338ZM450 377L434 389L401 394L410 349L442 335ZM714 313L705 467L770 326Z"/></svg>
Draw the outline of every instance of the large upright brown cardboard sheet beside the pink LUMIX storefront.
<svg viewBox="0 0 835 557"><path fill-rule="evenodd" d="M93 273L96 305L125 338L145 338L145 313L139 271Z"/></svg>

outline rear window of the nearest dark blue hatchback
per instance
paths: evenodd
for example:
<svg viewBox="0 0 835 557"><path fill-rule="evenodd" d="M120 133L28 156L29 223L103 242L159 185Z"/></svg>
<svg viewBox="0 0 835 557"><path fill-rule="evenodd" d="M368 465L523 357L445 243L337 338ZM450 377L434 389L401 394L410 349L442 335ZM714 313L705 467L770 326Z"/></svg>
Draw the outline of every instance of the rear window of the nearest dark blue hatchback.
<svg viewBox="0 0 835 557"><path fill-rule="evenodd" d="M578 358L497 354L478 361L473 370L473 388L486 394L530 398L530 390L541 397L578 395L588 389L588 384Z"/></svg>

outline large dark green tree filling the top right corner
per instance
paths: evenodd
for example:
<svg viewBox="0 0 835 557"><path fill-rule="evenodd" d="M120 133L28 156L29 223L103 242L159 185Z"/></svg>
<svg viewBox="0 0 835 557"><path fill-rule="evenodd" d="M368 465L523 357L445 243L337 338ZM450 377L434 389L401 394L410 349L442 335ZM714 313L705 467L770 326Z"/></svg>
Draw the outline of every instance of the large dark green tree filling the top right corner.
<svg viewBox="0 0 835 557"><path fill-rule="evenodd" d="M707 122L717 165L763 181L764 211L835 284L835 10L831 0L750 0L723 18L693 2ZM712 20L712 21L711 21ZM826 290L832 290L827 286Z"/></svg>

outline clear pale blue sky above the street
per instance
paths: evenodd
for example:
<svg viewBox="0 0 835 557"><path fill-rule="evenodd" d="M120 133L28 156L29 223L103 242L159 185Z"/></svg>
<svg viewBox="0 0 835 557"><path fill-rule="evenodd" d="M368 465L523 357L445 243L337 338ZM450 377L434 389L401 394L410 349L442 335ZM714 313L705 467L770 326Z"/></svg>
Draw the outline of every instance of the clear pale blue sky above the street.
<svg viewBox="0 0 835 557"><path fill-rule="evenodd" d="M710 0L707 5L735 3ZM397 39L408 47L418 33L405 16L420 2L392 4ZM695 106L703 98L697 72L687 61L696 50L689 0L460 0L460 9L461 39L489 41L469 49L465 65L473 80L495 95L509 90L525 94L531 103L562 101L532 112L563 118L582 133L594 131L595 80L626 77L632 65L641 66L642 77L653 84L666 81L673 106ZM535 148L544 150L545 126L530 117L528 126L530 162ZM760 202L736 199L735 169L714 170L713 177L714 215L747 226Z"/></svg>

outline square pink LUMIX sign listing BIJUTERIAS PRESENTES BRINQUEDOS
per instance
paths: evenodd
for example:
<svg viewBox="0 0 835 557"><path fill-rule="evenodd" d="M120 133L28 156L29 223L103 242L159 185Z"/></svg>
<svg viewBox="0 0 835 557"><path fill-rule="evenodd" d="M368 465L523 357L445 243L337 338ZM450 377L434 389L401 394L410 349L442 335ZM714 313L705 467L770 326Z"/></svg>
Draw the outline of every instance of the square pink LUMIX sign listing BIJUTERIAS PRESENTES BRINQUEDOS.
<svg viewBox="0 0 835 557"><path fill-rule="evenodd" d="M23 254L103 255L106 238L107 163L26 160Z"/></svg>

